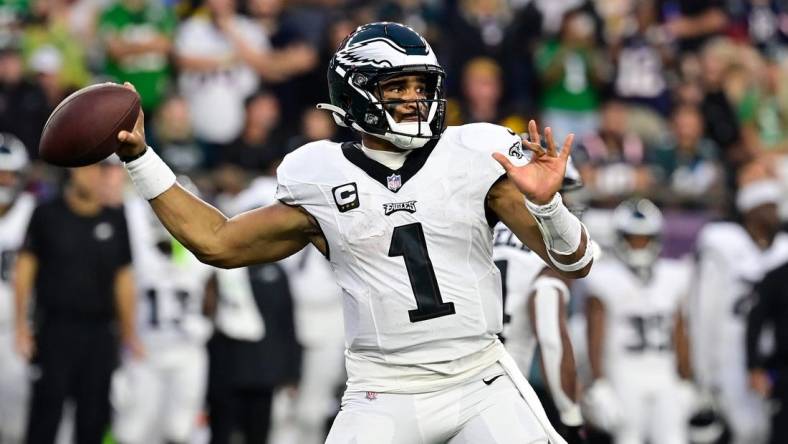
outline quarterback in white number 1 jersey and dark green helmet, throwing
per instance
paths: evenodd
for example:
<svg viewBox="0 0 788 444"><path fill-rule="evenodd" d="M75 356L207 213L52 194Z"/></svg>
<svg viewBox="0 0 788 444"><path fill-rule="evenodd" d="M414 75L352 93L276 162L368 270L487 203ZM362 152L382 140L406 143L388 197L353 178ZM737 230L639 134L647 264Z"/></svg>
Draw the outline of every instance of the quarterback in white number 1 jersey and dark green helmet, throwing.
<svg viewBox="0 0 788 444"><path fill-rule="evenodd" d="M118 154L205 262L275 261L310 242L329 258L348 382L328 443L564 442L496 335L491 227L503 221L563 276L588 273L590 239L557 193L572 136L559 150L549 128L542 148L533 121L525 142L486 123L446 128L444 71L400 24L359 27L328 71L331 104L320 106L361 142L287 155L273 205L228 219L185 192L146 148L141 119L118 134Z"/></svg>

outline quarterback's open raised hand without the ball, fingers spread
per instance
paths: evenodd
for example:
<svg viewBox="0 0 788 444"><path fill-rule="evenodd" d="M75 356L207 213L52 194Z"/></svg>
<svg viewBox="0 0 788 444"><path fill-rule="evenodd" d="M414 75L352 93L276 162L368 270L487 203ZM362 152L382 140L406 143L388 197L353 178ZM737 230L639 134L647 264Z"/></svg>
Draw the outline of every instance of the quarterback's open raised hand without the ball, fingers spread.
<svg viewBox="0 0 788 444"><path fill-rule="evenodd" d="M541 136L536 122L528 122L528 140L523 139L523 146L533 152L531 161L523 166L515 166L501 153L493 153L493 157L506 170L506 175L515 186L531 202L546 204L561 189L564 172L569 154L572 151L574 134L564 141L561 150L556 149L553 131L550 127L544 130L547 149L542 148Z"/></svg>

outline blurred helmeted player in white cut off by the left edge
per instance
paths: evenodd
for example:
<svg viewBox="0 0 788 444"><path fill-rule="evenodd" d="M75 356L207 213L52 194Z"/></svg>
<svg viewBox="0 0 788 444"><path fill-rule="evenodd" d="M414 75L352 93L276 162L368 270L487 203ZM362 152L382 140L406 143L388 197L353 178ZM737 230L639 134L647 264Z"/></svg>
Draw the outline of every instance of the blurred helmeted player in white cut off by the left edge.
<svg viewBox="0 0 788 444"><path fill-rule="evenodd" d="M23 192L28 168L25 145L0 133L0 442L20 443L24 435L29 383L27 364L14 350L14 293L11 271L22 245L35 198Z"/></svg>

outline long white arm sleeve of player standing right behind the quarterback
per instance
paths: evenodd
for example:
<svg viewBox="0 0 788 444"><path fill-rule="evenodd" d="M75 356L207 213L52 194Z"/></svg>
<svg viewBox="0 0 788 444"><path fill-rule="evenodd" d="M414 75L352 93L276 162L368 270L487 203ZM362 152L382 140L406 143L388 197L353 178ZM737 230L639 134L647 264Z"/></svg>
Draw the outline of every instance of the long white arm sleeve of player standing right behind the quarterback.
<svg viewBox="0 0 788 444"><path fill-rule="evenodd" d="M534 326L539 338L545 378L558 408L561 422L567 426L583 423L580 407L564 393L561 384L561 361L564 349L561 340L560 301L569 300L569 289L559 279L541 276L534 282ZM567 351L568 352L568 351Z"/></svg>

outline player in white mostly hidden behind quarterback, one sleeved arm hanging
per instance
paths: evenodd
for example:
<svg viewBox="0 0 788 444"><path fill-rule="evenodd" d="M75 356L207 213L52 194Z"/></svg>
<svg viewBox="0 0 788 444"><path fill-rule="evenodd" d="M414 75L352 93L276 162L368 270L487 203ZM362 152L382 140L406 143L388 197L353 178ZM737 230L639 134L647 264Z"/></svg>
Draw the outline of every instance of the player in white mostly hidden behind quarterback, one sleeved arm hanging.
<svg viewBox="0 0 788 444"><path fill-rule="evenodd" d="M578 217L582 212L581 187L580 175L570 159L561 194L564 199L569 197L567 200L574 195L572 211ZM493 239L493 259L503 284L502 337L506 349L528 375L539 346L542 374L563 426L559 431L570 443L582 442L583 418L576 403L575 362L566 324L570 297L567 282L504 224L495 226Z"/></svg>

